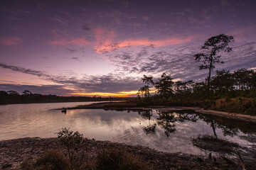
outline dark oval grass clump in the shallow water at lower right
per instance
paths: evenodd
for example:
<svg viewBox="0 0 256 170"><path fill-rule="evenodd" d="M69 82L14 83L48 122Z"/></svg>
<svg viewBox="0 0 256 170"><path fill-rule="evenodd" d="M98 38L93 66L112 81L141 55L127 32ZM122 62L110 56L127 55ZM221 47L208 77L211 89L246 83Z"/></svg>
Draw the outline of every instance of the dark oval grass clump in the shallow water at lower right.
<svg viewBox="0 0 256 170"><path fill-rule="evenodd" d="M227 140L219 139L211 135L199 135L196 138L191 138L194 146L201 149L206 149L210 152L222 152L233 153L234 148L238 148L239 145Z"/></svg>

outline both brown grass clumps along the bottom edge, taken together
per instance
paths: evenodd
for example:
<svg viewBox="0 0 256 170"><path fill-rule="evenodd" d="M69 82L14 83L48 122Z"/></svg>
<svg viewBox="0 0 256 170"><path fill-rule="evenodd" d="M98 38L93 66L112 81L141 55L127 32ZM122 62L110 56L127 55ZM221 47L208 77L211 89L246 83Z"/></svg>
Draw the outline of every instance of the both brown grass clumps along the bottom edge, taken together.
<svg viewBox="0 0 256 170"><path fill-rule="evenodd" d="M122 149L104 149L97 154L96 159L90 158L85 162L74 159L72 168L67 157L62 152L50 150L34 162L25 160L20 170L150 170L142 157ZM78 163L82 166L76 166Z"/></svg>

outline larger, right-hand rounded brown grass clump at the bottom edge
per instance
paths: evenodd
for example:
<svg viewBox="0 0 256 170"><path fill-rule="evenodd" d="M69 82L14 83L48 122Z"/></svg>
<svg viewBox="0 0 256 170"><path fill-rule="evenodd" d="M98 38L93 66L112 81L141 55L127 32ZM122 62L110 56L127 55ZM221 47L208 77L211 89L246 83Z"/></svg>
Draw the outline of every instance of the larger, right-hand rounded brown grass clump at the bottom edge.
<svg viewBox="0 0 256 170"><path fill-rule="evenodd" d="M135 170L149 169L142 158L119 149L107 149L97 156L97 169L102 170Z"/></svg>

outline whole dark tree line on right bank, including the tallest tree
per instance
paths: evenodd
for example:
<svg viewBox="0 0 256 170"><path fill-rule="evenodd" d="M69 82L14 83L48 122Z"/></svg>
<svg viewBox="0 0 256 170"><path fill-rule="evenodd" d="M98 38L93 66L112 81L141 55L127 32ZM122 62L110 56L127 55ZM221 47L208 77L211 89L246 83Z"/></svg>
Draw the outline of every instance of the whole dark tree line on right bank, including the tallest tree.
<svg viewBox="0 0 256 170"><path fill-rule="evenodd" d="M189 81L173 81L173 78L163 73L157 81L153 77L142 77L142 81L146 84L139 89L138 98L158 97L166 100L171 99L186 99L186 100L205 100L218 99L238 96L256 97L256 74L255 71L245 68L238 69L235 72L222 69L217 70L212 76L215 64L223 64L220 60L220 52L231 52L232 48L229 43L234 41L233 36L220 34L206 40L201 47L203 52L193 55L196 62L201 62L199 69L208 69L208 77L205 81L195 82ZM149 94L150 89L155 89L155 94Z"/></svg>

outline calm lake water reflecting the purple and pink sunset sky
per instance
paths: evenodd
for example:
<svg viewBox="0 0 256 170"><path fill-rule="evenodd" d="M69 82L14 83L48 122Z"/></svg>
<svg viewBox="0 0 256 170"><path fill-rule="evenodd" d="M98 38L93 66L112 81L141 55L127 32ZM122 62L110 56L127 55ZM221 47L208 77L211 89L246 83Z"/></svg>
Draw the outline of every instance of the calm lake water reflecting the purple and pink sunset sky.
<svg viewBox="0 0 256 170"><path fill-rule="evenodd" d="M105 111L103 109L68 110L76 103L33 103L0 106L0 140L21 137L56 137L61 128L82 133L95 140L110 140L128 145L143 145L163 152L202 154L191 138L217 135L241 146L253 145L240 136L255 135L251 123L198 115L191 111Z"/></svg>

